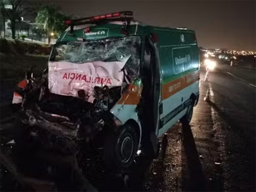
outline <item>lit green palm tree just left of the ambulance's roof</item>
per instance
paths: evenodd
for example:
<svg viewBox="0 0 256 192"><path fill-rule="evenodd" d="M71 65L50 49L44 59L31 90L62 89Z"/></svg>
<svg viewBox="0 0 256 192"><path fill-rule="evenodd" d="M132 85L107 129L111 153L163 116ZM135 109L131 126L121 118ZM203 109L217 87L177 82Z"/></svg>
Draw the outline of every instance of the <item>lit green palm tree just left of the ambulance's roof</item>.
<svg viewBox="0 0 256 192"><path fill-rule="evenodd" d="M48 44L51 42L51 33L58 34L65 29L63 21L67 17L58 11L54 5L43 6L36 16L36 23L43 24L44 30L47 30Z"/></svg>

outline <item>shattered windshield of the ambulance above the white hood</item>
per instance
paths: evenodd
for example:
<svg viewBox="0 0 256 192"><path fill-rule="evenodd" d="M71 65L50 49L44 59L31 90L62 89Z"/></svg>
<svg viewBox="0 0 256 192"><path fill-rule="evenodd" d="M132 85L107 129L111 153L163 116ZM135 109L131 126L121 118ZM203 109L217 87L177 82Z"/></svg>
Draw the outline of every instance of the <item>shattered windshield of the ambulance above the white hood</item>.
<svg viewBox="0 0 256 192"><path fill-rule="evenodd" d="M135 77L139 73L140 44L140 36L62 42L55 45L50 61L80 64L92 61L123 61L129 57L124 68Z"/></svg>

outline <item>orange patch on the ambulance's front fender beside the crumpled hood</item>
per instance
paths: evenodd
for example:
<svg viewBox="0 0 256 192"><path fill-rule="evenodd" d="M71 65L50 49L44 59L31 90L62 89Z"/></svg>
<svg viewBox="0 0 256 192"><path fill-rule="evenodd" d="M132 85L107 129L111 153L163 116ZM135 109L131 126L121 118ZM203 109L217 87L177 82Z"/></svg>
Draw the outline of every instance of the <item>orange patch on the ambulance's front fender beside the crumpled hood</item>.
<svg viewBox="0 0 256 192"><path fill-rule="evenodd" d="M140 102L142 88L135 84L130 84L127 92L125 92L117 104L137 105Z"/></svg>

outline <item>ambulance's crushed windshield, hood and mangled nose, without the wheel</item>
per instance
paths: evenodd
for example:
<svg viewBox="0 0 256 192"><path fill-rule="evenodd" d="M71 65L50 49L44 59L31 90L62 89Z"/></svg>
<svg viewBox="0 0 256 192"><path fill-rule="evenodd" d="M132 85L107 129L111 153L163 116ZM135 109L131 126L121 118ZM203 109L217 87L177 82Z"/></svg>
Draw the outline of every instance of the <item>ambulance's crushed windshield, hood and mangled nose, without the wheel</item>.
<svg viewBox="0 0 256 192"><path fill-rule="evenodd" d="M120 110L136 107L142 92L140 43L131 36L56 44L43 75L27 75L16 93L27 142L76 154L81 142L122 126Z"/></svg>

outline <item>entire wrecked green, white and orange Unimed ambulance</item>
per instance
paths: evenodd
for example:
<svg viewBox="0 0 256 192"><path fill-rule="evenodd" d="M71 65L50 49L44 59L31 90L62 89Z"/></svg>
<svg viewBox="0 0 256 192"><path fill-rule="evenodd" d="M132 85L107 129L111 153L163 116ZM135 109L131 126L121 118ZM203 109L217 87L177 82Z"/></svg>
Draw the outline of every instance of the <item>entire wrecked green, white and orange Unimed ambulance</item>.
<svg viewBox="0 0 256 192"><path fill-rule="evenodd" d="M188 124L198 102L195 31L146 25L131 11L65 24L43 75L28 72L14 92L16 142L77 153L96 140L104 163L119 168L155 156L159 138Z"/></svg>

